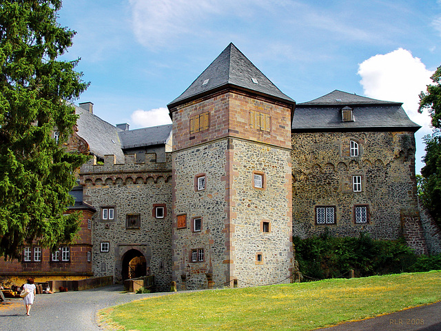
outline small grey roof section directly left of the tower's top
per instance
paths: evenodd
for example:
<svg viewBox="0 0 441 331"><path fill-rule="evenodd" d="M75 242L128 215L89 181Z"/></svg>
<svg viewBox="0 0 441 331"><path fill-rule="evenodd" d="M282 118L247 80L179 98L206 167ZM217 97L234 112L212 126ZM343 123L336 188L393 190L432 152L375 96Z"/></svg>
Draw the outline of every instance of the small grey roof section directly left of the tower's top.
<svg viewBox="0 0 441 331"><path fill-rule="evenodd" d="M165 126L120 131L119 138L123 149L136 148L167 143L171 133L172 124L166 124Z"/></svg>

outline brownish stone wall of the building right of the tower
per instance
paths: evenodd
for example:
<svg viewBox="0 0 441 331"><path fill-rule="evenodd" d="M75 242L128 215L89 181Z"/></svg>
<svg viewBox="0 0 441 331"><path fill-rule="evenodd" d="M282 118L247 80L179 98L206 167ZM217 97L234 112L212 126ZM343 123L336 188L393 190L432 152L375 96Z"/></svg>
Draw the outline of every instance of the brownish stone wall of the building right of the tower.
<svg viewBox="0 0 441 331"><path fill-rule="evenodd" d="M350 157L351 140L358 157ZM418 208L413 132L296 132L292 146L295 236L325 229L338 236L367 232L374 239L402 235L400 211ZM362 192L353 192L353 175L362 177ZM336 208L335 224L316 225L320 205ZM355 205L368 206L368 223L355 223Z"/></svg>

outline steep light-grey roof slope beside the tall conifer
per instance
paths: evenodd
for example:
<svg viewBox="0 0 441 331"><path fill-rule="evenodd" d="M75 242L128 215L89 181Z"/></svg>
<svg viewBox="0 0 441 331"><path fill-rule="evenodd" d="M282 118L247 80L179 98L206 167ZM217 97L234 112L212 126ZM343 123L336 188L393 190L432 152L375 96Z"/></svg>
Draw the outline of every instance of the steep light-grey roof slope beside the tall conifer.
<svg viewBox="0 0 441 331"><path fill-rule="evenodd" d="M124 153L118 135L122 130L83 108L75 106L75 113L79 115L79 119L76 120L76 133L88 142L90 152L101 158L107 154L114 154L117 163L124 163Z"/></svg>

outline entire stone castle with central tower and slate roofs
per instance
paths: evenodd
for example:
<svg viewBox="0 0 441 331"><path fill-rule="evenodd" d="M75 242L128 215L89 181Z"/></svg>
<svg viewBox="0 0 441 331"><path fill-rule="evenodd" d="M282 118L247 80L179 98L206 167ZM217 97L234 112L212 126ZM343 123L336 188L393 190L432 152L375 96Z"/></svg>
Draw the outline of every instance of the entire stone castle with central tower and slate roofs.
<svg viewBox="0 0 441 331"><path fill-rule="evenodd" d="M339 90L296 104L233 44L167 105L172 125L115 127L81 103L68 148L92 155L72 191L89 239L64 275L152 274L158 290L289 283L292 236L325 231L441 252L416 196L420 126L401 105ZM50 274L61 258L46 255Z"/></svg>

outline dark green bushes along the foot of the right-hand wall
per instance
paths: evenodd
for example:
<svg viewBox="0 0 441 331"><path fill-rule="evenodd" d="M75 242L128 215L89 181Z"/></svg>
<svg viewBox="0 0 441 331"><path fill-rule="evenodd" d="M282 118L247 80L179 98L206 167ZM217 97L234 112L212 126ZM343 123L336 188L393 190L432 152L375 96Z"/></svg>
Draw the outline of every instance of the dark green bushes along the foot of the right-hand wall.
<svg viewBox="0 0 441 331"><path fill-rule="evenodd" d="M354 270L356 277L392 274L404 271L441 270L441 254L417 257L404 240L373 240L360 237L294 237L296 260L305 280L347 277Z"/></svg>

